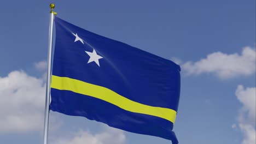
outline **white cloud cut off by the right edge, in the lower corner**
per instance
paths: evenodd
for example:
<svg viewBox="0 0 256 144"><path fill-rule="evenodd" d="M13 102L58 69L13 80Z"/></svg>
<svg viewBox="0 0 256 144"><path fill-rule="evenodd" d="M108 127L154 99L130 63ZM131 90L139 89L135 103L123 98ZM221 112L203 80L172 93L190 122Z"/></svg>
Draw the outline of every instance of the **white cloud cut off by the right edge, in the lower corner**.
<svg viewBox="0 0 256 144"><path fill-rule="evenodd" d="M238 127L244 135L242 144L255 144L256 88L244 88L239 85L236 89L236 97L242 103L237 117Z"/></svg>

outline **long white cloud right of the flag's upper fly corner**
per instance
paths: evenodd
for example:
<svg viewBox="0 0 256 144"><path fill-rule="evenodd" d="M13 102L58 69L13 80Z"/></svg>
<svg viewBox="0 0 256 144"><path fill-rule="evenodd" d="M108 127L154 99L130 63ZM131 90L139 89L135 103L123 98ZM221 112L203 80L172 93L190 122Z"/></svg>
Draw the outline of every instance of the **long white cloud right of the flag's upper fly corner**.
<svg viewBox="0 0 256 144"><path fill-rule="evenodd" d="M255 48L244 47L241 55L238 53L226 54L214 52L206 58L197 62L186 62L182 69L188 74L213 73L220 78L228 79L241 75L251 75L255 73L256 53Z"/></svg>

